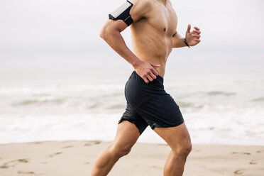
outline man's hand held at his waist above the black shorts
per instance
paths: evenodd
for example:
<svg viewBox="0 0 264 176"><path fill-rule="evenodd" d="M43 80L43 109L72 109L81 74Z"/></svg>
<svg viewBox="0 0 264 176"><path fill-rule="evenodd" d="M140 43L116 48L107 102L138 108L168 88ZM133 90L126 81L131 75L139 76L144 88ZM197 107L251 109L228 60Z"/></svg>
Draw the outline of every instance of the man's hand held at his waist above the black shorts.
<svg viewBox="0 0 264 176"><path fill-rule="evenodd" d="M144 79L145 83L148 83L149 81L152 82L158 76L158 72L154 67L160 67L160 65L156 65L153 62L140 61L134 68L136 73Z"/></svg>

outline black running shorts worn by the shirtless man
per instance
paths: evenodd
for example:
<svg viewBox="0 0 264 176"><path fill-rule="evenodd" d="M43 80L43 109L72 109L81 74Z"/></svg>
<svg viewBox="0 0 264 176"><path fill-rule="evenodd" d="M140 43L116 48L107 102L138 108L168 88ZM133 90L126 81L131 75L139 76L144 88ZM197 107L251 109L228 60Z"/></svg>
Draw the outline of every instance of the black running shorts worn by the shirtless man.
<svg viewBox="0 0 264 176"><path fill-rule="evenodd" d="M125 86L126 111L119 123L130 121L143 133L147 126L155 127L179 126L184 122L179 106L167 94L160 75L152 82L145 83L136 71L133 71Z"/></svg>

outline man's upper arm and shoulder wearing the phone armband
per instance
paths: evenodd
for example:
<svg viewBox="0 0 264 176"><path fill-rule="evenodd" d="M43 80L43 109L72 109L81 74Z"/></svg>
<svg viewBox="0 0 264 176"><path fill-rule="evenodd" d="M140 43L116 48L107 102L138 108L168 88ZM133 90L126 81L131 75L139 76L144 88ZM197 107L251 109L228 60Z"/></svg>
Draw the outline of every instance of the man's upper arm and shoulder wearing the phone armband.
<svg viewBox="0 0 264 176"><path fill-rule="evenodd" d="M125 28L147 16L150 11L150 0L131 0L119 5L119 8L109 13L109 21L105 26L118 29L120 32Z"/></svg>

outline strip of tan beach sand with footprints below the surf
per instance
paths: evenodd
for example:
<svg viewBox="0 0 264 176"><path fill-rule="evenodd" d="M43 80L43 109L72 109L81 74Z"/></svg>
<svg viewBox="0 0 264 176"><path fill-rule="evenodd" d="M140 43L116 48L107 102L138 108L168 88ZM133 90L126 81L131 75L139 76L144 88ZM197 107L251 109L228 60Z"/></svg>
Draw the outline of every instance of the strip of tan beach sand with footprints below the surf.
<svg viewBox="0 0 264 176"><path fill-rule="evenodd" d="M45 141L0 145L0 175L89 175L101 141ZM170 148L136 143L109 175L162 176ZM264 175L264 146L193 145L185 176Z"/></svg>

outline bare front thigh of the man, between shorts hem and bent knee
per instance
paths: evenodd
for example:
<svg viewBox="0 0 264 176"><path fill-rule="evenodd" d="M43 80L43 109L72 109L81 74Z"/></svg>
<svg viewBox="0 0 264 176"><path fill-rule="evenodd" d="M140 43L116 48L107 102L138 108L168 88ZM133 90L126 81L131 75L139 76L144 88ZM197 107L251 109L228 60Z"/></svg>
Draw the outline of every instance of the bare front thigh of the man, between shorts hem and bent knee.
<svg viewBox="0 0 264 176"><path fill-rule="evenodd" d="M191 138L185 123L169 128L154 128L154 131L170 145L172 150L190 145Z"/></svg>

